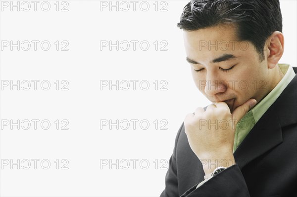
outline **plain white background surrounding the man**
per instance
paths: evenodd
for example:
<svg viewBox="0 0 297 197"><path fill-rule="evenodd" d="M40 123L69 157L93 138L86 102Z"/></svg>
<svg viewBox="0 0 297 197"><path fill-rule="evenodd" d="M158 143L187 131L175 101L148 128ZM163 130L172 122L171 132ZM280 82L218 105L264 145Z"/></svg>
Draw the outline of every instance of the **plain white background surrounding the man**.
<svg viewBox="0 0 297 197"><path fill-rule="evenodd" d="M17 86L9 84L1 90L0 196L159 196L165 187L168 161L183 119L195 108L210 103L194 85L185 61L183 32L176 27L188 0L147 1L148 11L141 10L142 1L138 1L135 11L130 1L128 11L122 10L126 4L121 7L121 1L118 11L116 7L109 11L109 1L105 1L108 6L100 11L100 3L105 4L99 0L59 1L59 11L56 1L49 1L49 11L41 9L43 1L37 4L37 11L31 1L29 11L22 7L20 11L17 7L10 11L11 1L7 2L9 6L2 6L0 12L0 40L40 42L36 51L33 42L28 51L1 45L2 86L5 81L20 80L20 85L23 82L26 88L25 82L29 80L31 88L24 90L20 86L17 90ZM20 6L22 2L19 1ZM145 9L146 4L142 5ZM23 6L27 9L26 4ZM68 11L61 11L64 6ZM295 0L281 0L285 53L280 63L292 66L297 65L296 6ZM162 7L167 11L160 11ZM48 51L41 49L44 40L51 44ZM54 44L57 40L58 51ZM61 50L63 40L69 43L68 51ZM113 43L127 40L130 49L124 51L126 45L122 45L118 51L116 47L100 50L100 40ZM138 41L135 51L131 40ZM157 50L153 44L156 40ZM147 51L140 48L141 41L150 44ZM160 50L162 46L167 50ZM32 80L40 81L37 90ZM44 80L49 81L49 90L41 88ZM63 80L68 81L68 90L61 90L66 84ZM111 86L112 90L109 86L100 89L100 80L101 84L102 80L113 83L128 80L130 88L121 89L127 85L122 83L119 90L116 86ZM135 90L130 80L139 80ZM148 81L148 90L141 89L143 80ZM153 83L156 80L157 87ZM167 90L161 90L163 85ZM146 83L142 88L146 88ZM32 119L39 120L36 129ZM58 129L54 123L57 119ZM126 127L123 122L119 129L115 125L111 129L101 125L100 129L102 119L128 120L130 127L123 129ZM135 129L131 119L137 119ZM5 120L25 121L19 124L20 129L17 125L11 129L10 123L3 124ZM27 120L31 127L25 130ZM50 122L48 130L41 127L42 120ZM149 122L148 129L140 126L141 120ZM65 122L68 130L61 129ZM167 130L161 129L162 125ZM18 159L19 166L11 165L11 161L17 163ZM39 159L36 169L32 159ZM48 169L44 169L47 162L42 165L42 160L50 162ZM105 161L108 163L102 165ZM63 164L68 169L61 169Z"/></svg>

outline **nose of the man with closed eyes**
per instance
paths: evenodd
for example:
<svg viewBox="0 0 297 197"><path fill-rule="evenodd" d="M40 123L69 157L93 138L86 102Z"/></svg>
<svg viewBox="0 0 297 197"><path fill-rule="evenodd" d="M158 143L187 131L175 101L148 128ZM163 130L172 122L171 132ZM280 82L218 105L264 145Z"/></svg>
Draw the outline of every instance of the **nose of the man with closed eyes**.
<svg viewBox="0 0 297 197"><path fill-rule="evenodd" d="M206 76L204 92L209 96L223 93L227 90L225 80L220 80L216 74L208 73Z"/></svg>

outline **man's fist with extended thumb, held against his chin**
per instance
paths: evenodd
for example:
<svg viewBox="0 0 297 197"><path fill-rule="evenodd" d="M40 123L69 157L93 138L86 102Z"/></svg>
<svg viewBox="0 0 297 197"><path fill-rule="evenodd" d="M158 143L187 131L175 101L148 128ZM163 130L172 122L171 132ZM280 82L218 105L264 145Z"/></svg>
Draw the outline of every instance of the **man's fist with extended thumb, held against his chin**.
<svg viewBox="0 0 297 197"><path fill-rule="evenodd" d="M236 124L256 102L249 99L232 114L225 102L218 102L209 105L205 112L203 108L197 108L195 115L186 116L185 132L191 149L203 164L205 174L211 173L219 165L229 167L235 164L230 161L234 161Z"/></svg>

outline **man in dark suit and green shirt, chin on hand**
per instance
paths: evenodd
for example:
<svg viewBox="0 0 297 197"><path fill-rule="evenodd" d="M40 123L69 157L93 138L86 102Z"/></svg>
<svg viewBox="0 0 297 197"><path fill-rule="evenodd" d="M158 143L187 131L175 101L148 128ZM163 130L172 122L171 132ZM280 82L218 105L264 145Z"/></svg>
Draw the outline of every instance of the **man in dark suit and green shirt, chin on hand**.
<svg viewBox="0 0 297 197"><path fill-rule="evenodd" d="M181 125L164 197L297 197L296 67L279 0L191 0L178 27L213 104Z"/></svg>

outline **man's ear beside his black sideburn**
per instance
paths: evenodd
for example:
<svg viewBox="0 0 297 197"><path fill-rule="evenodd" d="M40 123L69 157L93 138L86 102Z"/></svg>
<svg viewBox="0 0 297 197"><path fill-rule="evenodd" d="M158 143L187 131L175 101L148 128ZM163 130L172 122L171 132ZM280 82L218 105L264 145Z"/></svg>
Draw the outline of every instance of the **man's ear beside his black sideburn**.
<svg viewBox="0 0 297 197"><path fill-rule="evenodd" d="M284 53L284 35L275 31L266 41L268 68L274 68Z"/></svg>

